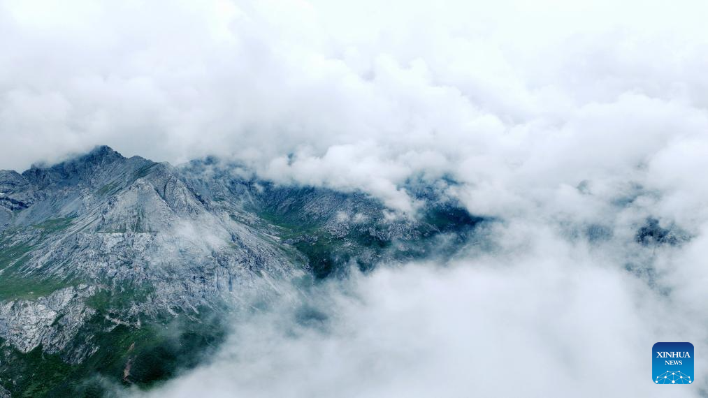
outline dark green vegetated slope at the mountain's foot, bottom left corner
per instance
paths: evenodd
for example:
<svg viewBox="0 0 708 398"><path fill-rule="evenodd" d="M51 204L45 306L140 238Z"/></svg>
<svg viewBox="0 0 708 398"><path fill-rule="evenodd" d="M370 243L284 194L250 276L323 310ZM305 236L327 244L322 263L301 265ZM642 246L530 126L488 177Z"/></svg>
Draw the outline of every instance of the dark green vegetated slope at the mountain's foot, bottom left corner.
<svg viewBox="0 0 708 398"><path fill-rule="evenodd" d="M115 324L99 312L76 339L99 347L86 361L71 365L41 347L26 354L5 348L0 385L13 397L105 397L120 385L147 388L198 365L225 335L219 317L206 309L199 320L183 314L141 327Z"/></svg>

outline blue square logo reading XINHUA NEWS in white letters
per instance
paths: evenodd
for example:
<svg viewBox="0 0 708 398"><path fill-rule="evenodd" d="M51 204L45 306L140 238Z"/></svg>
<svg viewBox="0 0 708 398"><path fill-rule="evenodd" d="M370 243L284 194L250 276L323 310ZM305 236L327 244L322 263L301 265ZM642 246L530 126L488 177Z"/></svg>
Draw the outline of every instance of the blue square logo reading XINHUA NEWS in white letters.
<svg viewBox="0 0 708 398"><path fill-rule="evenodd" d="M651 351L654 384L693 384L693 344L656 343Z"/></svg>

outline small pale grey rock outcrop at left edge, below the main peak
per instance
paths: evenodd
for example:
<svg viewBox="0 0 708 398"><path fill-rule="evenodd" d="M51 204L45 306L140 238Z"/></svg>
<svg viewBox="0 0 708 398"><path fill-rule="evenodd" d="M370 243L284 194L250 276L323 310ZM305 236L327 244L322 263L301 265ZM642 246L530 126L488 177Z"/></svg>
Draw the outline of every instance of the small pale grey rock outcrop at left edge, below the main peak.
<svg viewBox="0 0 708 398"><path fill-rule="evenodd" d="M79 285L36 300L1 303L0 336L23 353L40 345L47 353L57 353L95 313L84 303L95 291L93 286Z"/></svg>

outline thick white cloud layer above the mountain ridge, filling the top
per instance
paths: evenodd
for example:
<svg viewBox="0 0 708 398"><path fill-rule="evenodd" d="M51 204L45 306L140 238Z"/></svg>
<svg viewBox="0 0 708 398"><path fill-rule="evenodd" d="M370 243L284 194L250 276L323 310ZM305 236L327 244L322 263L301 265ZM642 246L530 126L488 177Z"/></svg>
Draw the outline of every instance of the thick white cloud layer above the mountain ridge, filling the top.
<svg viewBox="0 0 708 398"><path fill-rule="evenodd" d="M702 8L3 1L0 167L215 154L404 211L407 177L448 175L495 214L520 169L573 185L703 142Z"/></svg>

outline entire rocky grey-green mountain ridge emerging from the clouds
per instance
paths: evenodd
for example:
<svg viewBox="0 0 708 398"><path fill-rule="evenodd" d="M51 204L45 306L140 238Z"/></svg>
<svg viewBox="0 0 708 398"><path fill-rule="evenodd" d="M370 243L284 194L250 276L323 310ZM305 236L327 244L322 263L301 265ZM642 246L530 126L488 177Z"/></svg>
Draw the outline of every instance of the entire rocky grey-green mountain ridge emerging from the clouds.
<svg viewBox="0 0 708 398"><path fill-rule="evenodd" d="M362 192L108 146L0 171L0 396L107 394L101 380L149 387L218 346L222 315L246 297L454 256L483 225L435 190L409 191L421 211L392 217Z"/></svg>

